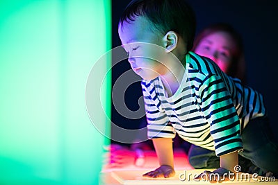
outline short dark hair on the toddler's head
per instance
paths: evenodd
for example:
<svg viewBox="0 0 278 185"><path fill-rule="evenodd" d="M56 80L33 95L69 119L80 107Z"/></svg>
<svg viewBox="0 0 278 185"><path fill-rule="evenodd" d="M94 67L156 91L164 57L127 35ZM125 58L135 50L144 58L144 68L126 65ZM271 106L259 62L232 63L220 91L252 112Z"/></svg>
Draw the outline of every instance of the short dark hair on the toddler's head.
<svg viewBox="0 0 278 185"><path fill-rule="evenodd" d="M138 16L144 16L152 27L163 35L172 30L187 44L187 51L193 46L196 21L195 13L184 0L133 0L126 6L119 24L132 23Z"/></svg>

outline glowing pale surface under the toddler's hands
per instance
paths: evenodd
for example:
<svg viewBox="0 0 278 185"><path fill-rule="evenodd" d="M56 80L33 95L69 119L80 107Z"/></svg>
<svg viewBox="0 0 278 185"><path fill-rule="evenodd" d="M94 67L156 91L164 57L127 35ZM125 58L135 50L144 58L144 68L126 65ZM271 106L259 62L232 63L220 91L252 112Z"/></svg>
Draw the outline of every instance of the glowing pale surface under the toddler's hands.
<svg viewBox="0 0 278 185"><path fill-rule="evenodd" d="M101 179L102 184L105 185L179 185L179 184L211 184L209 182L197 182L193 179L193 175L200 174L204 170L213 170L213 169L193 169L192 166L188 163L188 157L184 152L176 151L174 153L174 166L176 170L176 175L171 178L148 178L148 177L142 177L142 174L147 173L151 170L154 170L158 167L158 159L156 157L155 152L146 152L147 158L145 166L142 168L138 168L136 166L126 166L124 168L104 168L102 171ZM179 179L179 175L181 173L184 173L184 170L186 170L187 175L190 173L192 174L190 176L190 179L185 179L184 181L181 181ZM240 176L239 176L240 177ZM244 177L244 176L243 176ZM186 177L188 178L188 176ZM250 177L250 181L247 181L243 179L242 181L240 178L239 180L234 180L234 182L222 182L224 184L242 184L242 185L250 185L250 184L269 184L269 185L278 185L278 182L256 182L252 180L252 177ZM259 177L258 177L259 179ZM101 185L102 185L101 184Z"/></svg>

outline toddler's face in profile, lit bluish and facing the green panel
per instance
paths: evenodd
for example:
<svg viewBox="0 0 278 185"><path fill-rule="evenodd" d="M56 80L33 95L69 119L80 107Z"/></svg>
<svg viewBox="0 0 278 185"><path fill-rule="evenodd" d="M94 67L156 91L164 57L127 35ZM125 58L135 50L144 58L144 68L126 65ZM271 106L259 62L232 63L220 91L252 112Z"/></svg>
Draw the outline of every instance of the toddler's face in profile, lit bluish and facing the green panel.
<svg viewBox="0 0 278 185"><path fill-rule="evenodd" d="M124 50L129 54L133 71L145 80L152 80L167 71L163 35L149 29L145 17L136 17L131 24L124 21L118 28Z"/></svg>

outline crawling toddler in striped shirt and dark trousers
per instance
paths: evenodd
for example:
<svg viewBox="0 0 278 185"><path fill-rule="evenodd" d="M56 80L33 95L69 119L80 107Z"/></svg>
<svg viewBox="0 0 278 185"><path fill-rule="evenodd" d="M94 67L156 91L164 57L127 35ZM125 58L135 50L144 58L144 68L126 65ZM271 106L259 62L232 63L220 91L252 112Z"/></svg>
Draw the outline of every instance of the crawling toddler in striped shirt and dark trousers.
<svg viewBox="0 0 278 185"><path fill-rule="evenodd" d="M261 94L229 78L212 60L190 52L195 15L185 1L133 0L124 10L118 32L131 68L143 78L148 136L161 165L144 176L174 176L176 133L215 150L220 168L213 173L237 172L234 167L243 143L247 143L243 157L277 173L277 163L272 162L278 156L277 145L263 140L258 149L249 142L256 125L264 123L264 130L259 130L262 136L269 130ZM255 127L243 132L247 123Z"/></svg>

